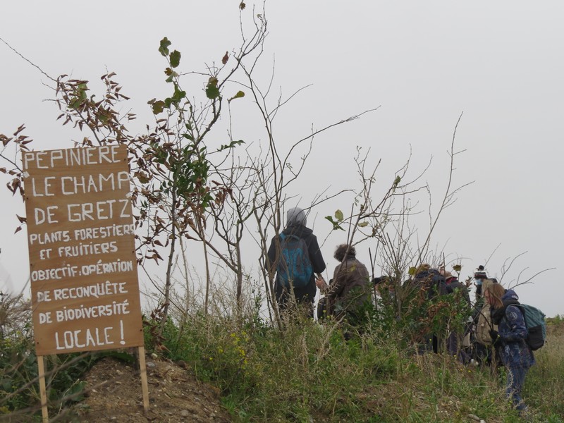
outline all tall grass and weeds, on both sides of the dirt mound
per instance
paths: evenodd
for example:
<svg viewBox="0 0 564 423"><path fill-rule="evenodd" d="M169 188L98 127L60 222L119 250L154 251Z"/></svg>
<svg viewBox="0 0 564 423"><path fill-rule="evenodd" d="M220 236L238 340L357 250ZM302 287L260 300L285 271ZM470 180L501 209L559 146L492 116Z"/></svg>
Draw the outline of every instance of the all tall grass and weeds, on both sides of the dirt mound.
<svg viewBox="0 0 564 423"><path fill-rule="evenodd" d="M225 309L204 314L192 307L168 319L159 339L150 330L159 322L147 323L147 350L183 360L198 379L218 386L234 422L469 422L471 415L489 423L523 421L505 398L503 368L417 353L385 316L358 333L342 322L319 323L298 312L286 316L283 329L275 329L257 307L238 317ZM22 324L1 338L1 421L32 421L34 411L33 418L38 417L29 317ZM529 422L563 422L562 329L549 331L527 375ZM69 398L80 400L75 387L95 357L52 360L49 368L57 372L49 382L49 400L56 404L50 410L55 415L68 407ZM27 415L18 415L25 409Z"/></svg>

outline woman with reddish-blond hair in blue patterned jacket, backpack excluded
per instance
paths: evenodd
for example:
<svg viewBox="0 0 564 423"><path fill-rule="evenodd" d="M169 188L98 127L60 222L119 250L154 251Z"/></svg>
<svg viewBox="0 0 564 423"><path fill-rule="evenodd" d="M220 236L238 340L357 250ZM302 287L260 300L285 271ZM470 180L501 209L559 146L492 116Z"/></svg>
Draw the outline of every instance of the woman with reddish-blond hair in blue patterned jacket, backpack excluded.
<svg viewBox="0 0 564 423"><path fill-rule="evenodd" d="M492 283L484 290L484 297L491 306L491 321L498 330L489 331L494 346L501 345L501 360L507 369L505 393L513 401L515 409L523 412L527 405L521 398L525 376L534 364L534 356L527 344L525 317L518 307L517 294L505 290L499 283Z"/></svg>

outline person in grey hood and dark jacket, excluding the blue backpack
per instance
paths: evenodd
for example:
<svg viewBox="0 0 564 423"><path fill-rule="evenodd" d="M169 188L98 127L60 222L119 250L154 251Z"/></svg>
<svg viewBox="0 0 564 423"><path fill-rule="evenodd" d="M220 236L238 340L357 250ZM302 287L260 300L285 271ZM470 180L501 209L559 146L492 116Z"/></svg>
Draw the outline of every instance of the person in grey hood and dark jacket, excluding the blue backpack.
<svg viewBox="0 0 564 423"><path fill-rule="evenodd" d="M271 240L268 251L268 269L272 273L276 271L276 281L274 283L274 292L276 293L276 301L278 302L279 309L284 310L288 307L288 302L292 297L295 298L296 304L305 304L308 306L308 313L313 317L313 304L315 294L317 293L317 286L315 285L315 274L321 274L325 270L325 260L321 255L317 237L313 231L306 227L307 216L304 210L299 207L294 207L286 212L286 228L281 232L280 236L274 237ZM307 249L307 257L311 262L312 273L305 286L291 286L289 288L283 281L278 263L283 257L284 240L288 238L301 239L305 242ZM278 270L278 271L277 271Z"/></svg>

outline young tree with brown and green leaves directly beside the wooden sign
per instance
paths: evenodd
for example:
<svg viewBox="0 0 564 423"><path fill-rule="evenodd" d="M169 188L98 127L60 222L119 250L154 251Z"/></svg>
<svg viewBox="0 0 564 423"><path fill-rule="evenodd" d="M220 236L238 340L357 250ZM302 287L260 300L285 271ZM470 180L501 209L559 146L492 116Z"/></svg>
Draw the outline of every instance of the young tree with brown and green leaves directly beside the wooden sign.
<svg viewBox="0 0 564 423"><path fill-rule="evenodd" d="M221 183L209 180L209 154L212 152L206 141L223 114L225 104L244 97L245 93L235 88L233 80L243 63L260 53L266 37L264 13L245 11L243 2L239 9L240 46L231 52L222 52L218 55L219 60L203 72L180 73L180 52L170 48L171 42L166 37L161 40L159 53L166 59L164 73L171 94L164 99L149 100L155 120L152 125L147 124L144 135L131 135L128 123L136 116L122 113L118 108L128 97L121 92L115 73L102 76L105 92L99 97L90 94L87 80L68 78L68 75L51 78L44 73L53 83L54 101L61 111L58 119L63 125L71 124L85 132L82 141L75 143L77 146L112 143L128 146L130 171L134 177L132 200L137 209L138 262L144 264L147 259L160 262L162 252L168 253L164 286L158 287L163 295L160 309L163 324L170 304L178 240L183 237L204 241L204 257L207 257L206 214L210 204L221 206L229 190ZM252 13L253 29L248 36L242 23L245 13ZM189 93L183 89L185 78L196 80L196 86L198 82L204 82L204 89ZM23 129L23 126L18 128L13 137L0 137L3 142L0 157L11 165L11 168L0 168L0 171L13 176L8 188L22 195L23 176L16 157L31 142L20 135ZM219 151L228 153L242 142L230 142ZM13 159L4 154L8 145L16 147Z"/></svg>

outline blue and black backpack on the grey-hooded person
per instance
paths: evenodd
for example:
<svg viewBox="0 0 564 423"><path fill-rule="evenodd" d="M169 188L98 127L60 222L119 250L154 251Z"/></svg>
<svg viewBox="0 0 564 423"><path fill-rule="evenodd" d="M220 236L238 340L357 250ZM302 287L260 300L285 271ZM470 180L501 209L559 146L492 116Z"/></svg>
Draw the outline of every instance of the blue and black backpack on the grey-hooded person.
<svg viewBox="0 0 564 423"><path fill-rule="evenodd" d="M278 281L286 288L304 288L312 278L312 262L305 240L296 235L280 234L281 256L276 267Z"/></svg>

